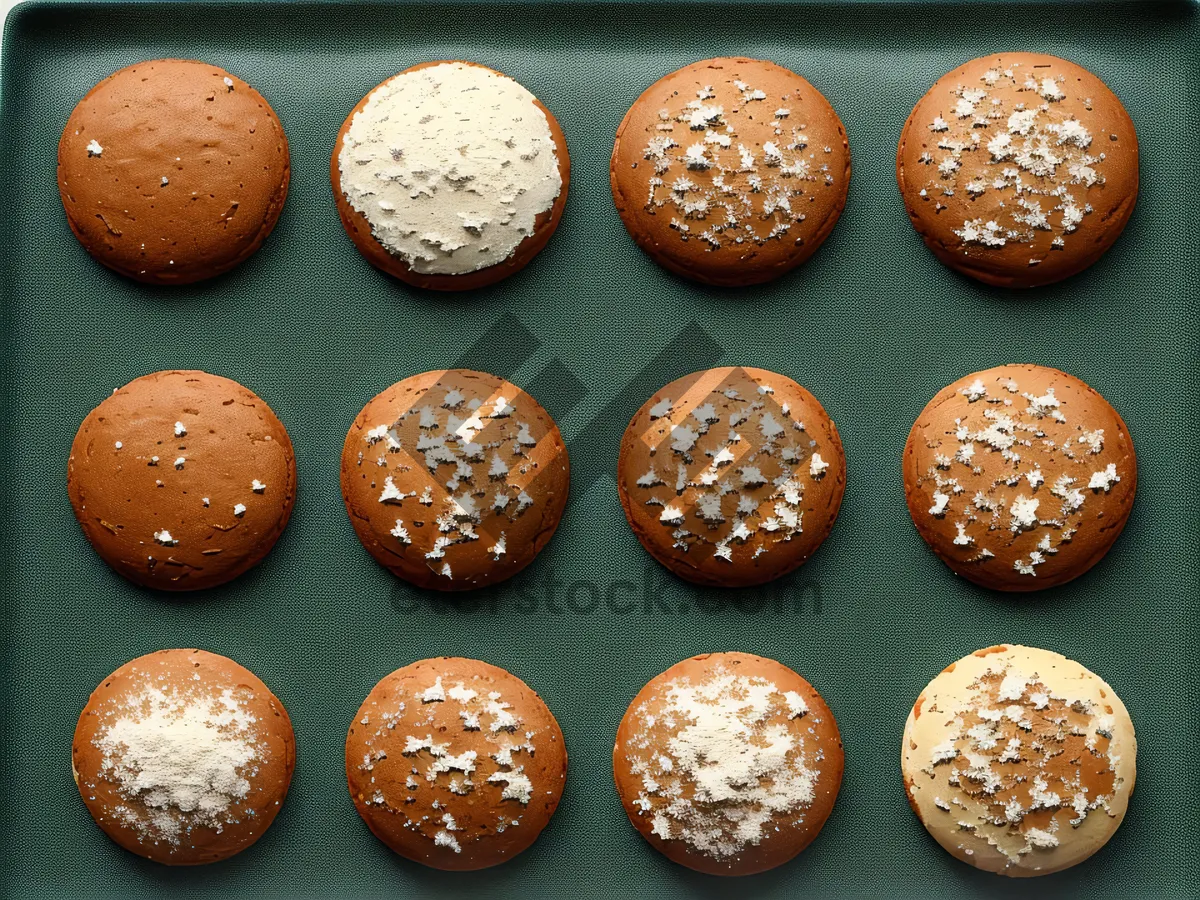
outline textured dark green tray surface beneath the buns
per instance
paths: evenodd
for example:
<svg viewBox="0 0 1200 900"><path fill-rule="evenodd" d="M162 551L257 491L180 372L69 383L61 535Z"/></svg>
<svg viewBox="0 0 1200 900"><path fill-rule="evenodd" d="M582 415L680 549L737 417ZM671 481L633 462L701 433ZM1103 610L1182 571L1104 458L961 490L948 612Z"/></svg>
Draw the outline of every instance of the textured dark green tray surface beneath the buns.
<svg viewBox="0 0 1200 900"><path fill-rule="evenodd" d="M0 893L1194 896L1198 37L1195 6L1150 2L18 11L4 46L0 146ZM934 79L1004 48L1057 53L1097 72L1126 102L1142 151L1141 198L1112 251L1064 284L1021 294L936 263L905 217L893 173L900 127ZM752 290L667 276L629 240L608 196L612 136L630 102L659 76L722 53L806 76L841 114L854 160L850 203L826 246L798 272ZM59 131L76 101L119 66L164 55L244 76L278 112L293 154L292 193L263 250L224 277L176 290L92 263L54 186ZM572 154L571 197L548 248L521 275L467 296L418 293L371 269L342 233L328 178L334 136L354 103L384 77L440 58L521 80L558 116ZM1140 457L1136 509L1108 558L1072 584L1021 598L956 581L912 528L900 481L901 448L926 400L1007 361L1058 366L1094 385L1129 424ZM558 416L575 479L558 535L527 572L448 601L398 584L367 557L337 472L346 428L367 398L455 362L529 388ZM715 362L798 379L846 444L833 536L774 593L700 592L671 580L630 533L610 474L642 400ZM76 526L64 484L83 416L114 386L167 367L206 368L258 391L298 454L299 503L275 551L198 596L148 593L110 572ZM550 601L547 578L558 582ZM1126 824L1091 862L1036 886L942 852L908 811L898 775L917 692L949 661L997 641L1079 659L1114 685L1138 726ZM187 646L256 671L287 704L299 742L275 826L203 871L112 845L79 802L68 760L76 716L97 682L137 654ZM846 780L821 838L792 864L736 887L650 851L611 786L612 738L629 700L668 665L712 649L797 668L828 700L846 743ZM408 864L368 834L347 796L342 745L353 712L379 677L434 654L516 672L566 736L564 803L534 848L500 869L449 875Z"/></svg>

